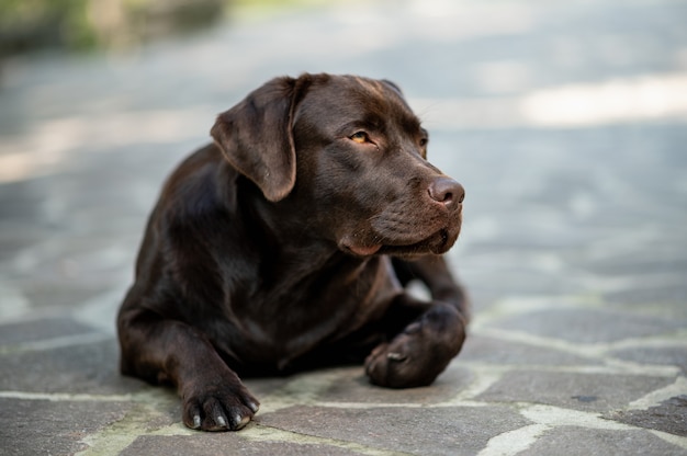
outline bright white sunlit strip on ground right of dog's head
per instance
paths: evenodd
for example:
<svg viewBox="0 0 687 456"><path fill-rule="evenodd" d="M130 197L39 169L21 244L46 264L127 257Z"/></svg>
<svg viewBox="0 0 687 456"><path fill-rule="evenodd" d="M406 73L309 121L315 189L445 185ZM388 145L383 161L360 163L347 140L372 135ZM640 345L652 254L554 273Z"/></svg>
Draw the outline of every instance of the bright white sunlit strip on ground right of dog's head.
<svg viewBox="0 0 687 456"><path fill-rule="evenodd" d="M687 121L687 73L533 90L521 96L414 99L429 128L575 128Z"/></svg>

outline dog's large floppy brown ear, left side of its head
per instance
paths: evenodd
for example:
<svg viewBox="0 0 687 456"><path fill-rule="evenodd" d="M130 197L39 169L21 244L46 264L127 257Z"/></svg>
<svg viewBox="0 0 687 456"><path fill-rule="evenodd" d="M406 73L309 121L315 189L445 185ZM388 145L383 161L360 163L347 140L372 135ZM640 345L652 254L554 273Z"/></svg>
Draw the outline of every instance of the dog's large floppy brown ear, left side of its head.
<svg viewBox="0 0 687 456"><path fill-rule="evenodd" d="M211 135L224 157L271 202L289 195L296 179L292 118L297 103L292 78L275 78L217 116Z"/></svg>

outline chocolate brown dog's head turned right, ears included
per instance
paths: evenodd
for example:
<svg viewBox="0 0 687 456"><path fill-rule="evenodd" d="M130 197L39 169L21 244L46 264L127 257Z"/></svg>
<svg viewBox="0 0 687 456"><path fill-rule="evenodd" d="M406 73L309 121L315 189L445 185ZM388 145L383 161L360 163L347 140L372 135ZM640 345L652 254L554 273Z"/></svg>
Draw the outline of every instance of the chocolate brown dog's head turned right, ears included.
<svg viewBox="0 0 687 456"><path fill-rule="evenodd" d="M273 79L212 135L268 201L346 252L443 253L458 238L463 187L427 161L427 132L392 82Z"/></svg>

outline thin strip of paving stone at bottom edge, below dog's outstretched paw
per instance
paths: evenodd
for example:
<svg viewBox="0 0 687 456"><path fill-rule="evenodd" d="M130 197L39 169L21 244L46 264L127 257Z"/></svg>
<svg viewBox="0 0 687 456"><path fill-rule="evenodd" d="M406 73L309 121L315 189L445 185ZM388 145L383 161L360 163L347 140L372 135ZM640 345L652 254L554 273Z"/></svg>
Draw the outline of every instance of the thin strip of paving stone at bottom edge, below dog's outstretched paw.
<svg viewBox="0 0 687 456"><path fill-rule="evenodd" d="M241 431L243 433L244 431ZM246 430L245 432L249 432ZM199 433L191 436L137 437L134 443L120 453L121 456L204 456L204 455L359 455L359 452L339 448L333 445L293 443L293 442L255 442L245 438L241 433Z"/></svg>

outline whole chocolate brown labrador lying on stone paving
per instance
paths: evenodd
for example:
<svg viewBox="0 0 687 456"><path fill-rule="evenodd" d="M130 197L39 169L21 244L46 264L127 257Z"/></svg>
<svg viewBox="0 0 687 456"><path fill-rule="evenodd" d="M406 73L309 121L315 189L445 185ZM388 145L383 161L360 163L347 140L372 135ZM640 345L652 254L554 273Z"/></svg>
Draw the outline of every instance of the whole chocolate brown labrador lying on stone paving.
<svg viewBox="0 0 687 456"><path fill-rule="evenodd" d="M258 411L239 375L364 361L376 385L432 383L465 338L441 258L464 191L427 161L399 89L277 78L211 133L149 218L117 319L122 373L176 386L205 431ZM414 278L431 300L405 292Z"/></svg>

